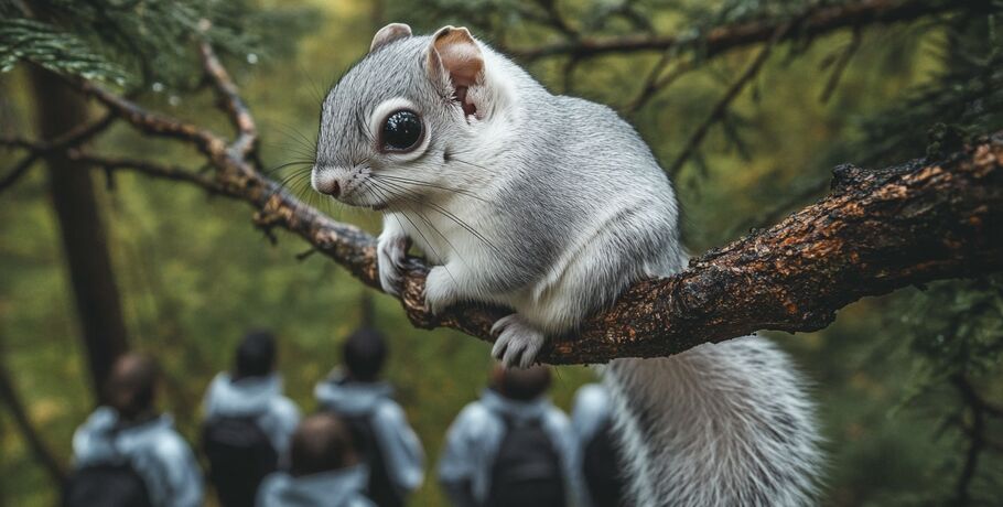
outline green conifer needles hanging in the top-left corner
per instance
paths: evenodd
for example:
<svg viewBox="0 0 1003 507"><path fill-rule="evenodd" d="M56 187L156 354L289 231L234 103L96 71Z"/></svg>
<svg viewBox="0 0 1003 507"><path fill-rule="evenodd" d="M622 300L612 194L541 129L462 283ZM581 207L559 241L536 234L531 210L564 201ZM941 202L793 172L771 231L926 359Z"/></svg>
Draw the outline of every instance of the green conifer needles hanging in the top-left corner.
<svg viewBox="0 0 1003 507"><path fill-rule="evenodd" d="M85 79L186 89L198 84L197 41L254 63L262 52L288 54L290 33L315 26L313 12L245 0L0 0L0 68L23 60Z"/></svg>

